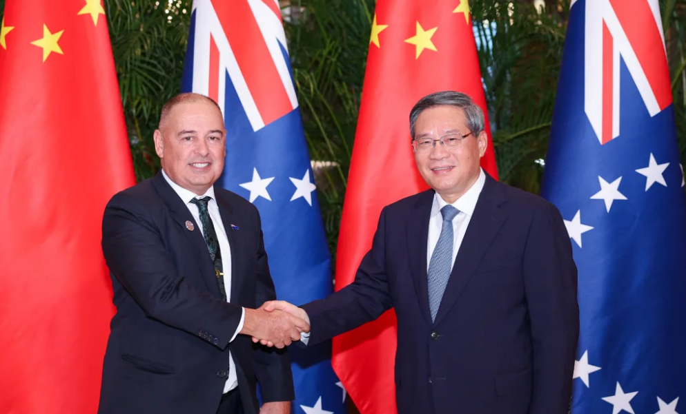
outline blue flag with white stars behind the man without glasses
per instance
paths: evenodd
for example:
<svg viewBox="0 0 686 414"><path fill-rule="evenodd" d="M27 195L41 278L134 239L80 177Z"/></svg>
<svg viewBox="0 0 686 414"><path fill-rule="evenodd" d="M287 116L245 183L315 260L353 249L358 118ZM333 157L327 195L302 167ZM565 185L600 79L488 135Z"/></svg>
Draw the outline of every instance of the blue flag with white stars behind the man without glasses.
<svg viewBox="0 0 686 414"><path fill-rule="evenodd" d="M259 209L277 296L304 304L331 294L314 173L277 0L195 0L183 92L210 96L226 123L220 182ZM293 413L345 413L331 343L289 349Z"/></svg>

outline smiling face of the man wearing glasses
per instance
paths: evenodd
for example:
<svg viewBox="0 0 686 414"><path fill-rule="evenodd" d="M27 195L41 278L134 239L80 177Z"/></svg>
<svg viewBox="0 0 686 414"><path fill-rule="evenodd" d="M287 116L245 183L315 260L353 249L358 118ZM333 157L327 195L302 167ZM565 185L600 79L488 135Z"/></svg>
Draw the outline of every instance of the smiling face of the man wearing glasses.
<svg viewBox="0 0 686 414"><path fill-rule="evenodd" d="M438 140L446 134L470 132L464 111L454 105L430 107L419 114L415 123L415 138ZM415 162L427 184L447 203L454 203L479 178L480 160L486 146L485 132L476 137L471 134L455 147L436 141L429 152L415 152Z"/></svg>

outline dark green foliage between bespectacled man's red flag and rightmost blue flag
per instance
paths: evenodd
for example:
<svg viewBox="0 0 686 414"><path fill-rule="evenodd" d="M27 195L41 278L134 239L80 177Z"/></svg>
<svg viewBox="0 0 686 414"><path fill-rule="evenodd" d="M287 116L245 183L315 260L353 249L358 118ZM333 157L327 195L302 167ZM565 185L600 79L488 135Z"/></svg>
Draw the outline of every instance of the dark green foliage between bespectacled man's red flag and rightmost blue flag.
<svg viewBox="0 0 686 414"><path fill-rule="evenodd" d="M565 6L564 10L567 10ZM472 2L500 180L538 193L565 27L529 3Z"/></svg>

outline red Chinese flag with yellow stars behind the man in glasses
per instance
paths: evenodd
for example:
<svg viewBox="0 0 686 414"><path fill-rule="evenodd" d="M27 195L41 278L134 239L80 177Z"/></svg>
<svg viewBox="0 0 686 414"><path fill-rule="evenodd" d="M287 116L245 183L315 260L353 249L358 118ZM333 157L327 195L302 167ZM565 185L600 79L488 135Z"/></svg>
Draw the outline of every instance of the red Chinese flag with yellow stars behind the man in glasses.
<svg viewBox="0 0 686 414"><path fill-rule="evenodd" d="M338 239L336 290L354 280L382 208L428 188L413 158L409 113L422 96L442 90L469 94L487 114L467 0L379 0ZM497 178L486 121L482 167ZM333 367L362 414L396 412L396 342L393 311L333 340Z"/></svg>

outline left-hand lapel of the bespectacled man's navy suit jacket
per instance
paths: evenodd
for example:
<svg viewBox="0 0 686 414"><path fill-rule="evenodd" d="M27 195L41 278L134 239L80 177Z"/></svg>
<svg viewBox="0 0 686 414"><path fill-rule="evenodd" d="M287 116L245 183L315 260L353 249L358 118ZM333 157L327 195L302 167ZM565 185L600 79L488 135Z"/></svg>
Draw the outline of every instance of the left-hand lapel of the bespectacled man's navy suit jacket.
<svg viewBox="0 0 686 414"><path fill-rule="evenodd" d="M419 200L411 210L407 220L407 255L413 284L419 300L422 317L431 326L431 311L429 311L429 292L427 283L427 243L429 242L429 218L433 205L433 190L420 194Z"/></svg>

